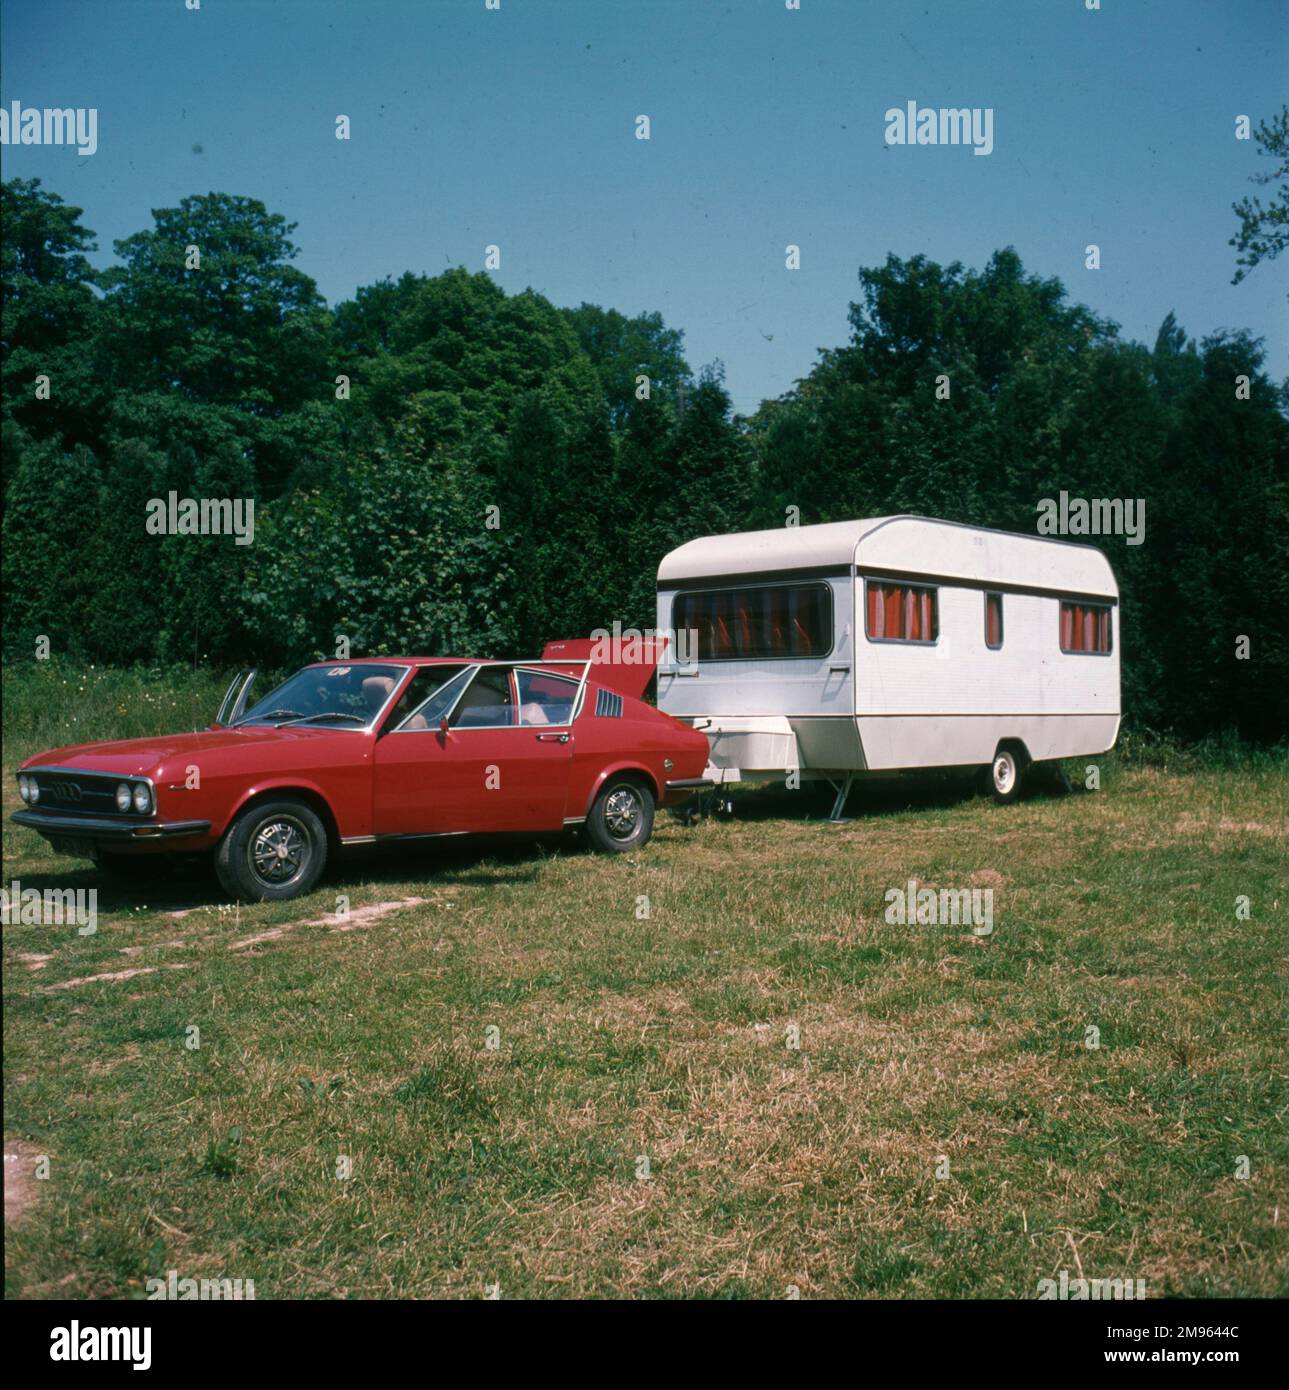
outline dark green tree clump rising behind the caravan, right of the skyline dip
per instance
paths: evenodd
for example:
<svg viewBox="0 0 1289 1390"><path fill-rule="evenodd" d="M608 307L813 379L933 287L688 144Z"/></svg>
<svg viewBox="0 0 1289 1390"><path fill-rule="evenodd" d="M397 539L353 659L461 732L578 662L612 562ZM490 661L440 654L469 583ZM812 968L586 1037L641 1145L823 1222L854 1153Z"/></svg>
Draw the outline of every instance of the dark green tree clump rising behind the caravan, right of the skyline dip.
<svg viewBox="0 0 1289 1390"><path fill-rule="evenodd" d="M1090 538L1119 581L1129 724L1282 734L1289 427L1261 345L1196 345L1169 314L1147 353L1012 250L979 274L893 256L859 279L851 343L749 423L763 524L795 505L802 521L912 512L1033 534L1062 489L1143 498L1144 545Z"/></svg>

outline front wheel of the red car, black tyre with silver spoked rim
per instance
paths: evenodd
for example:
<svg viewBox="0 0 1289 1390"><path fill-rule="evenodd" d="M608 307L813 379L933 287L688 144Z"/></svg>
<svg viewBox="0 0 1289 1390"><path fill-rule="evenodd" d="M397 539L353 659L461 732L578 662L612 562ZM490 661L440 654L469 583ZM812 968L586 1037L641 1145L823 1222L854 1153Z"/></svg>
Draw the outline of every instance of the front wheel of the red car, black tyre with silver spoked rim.
<svg viewBox="0 0 1289 1390"><path fill-rule="evenodd" d="M327 866L327 827L302 801L243 810L216 851L224 891L243 902L282 902L309 892Z"/></svg>

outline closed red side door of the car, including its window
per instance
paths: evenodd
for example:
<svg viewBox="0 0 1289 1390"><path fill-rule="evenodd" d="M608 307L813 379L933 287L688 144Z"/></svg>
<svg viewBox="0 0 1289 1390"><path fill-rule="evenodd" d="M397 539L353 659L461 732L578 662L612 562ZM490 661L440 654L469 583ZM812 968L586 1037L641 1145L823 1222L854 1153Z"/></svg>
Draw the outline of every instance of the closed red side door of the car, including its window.
<svg viewBox="0 0 1289 1390"><path fill-rule="evenodd" d="M485 663L463 681L449 712L431 710L432 727L400 727L382 737L375 749L375 833L562 828L573 758L571 698L559 702L541 694L512 667ZM439 719L448 720L446 731Z"/></svg>

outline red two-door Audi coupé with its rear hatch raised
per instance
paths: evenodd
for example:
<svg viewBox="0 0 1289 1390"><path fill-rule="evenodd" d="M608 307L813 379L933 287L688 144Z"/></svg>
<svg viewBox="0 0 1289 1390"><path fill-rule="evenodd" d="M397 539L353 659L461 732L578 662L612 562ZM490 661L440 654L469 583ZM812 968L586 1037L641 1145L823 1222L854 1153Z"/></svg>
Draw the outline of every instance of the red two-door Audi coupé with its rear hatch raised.
<svg viewBox="0 0 1289 1390"><path fill-rule="evenodd" d="M248 708L249 673L204 733L29 758L13 819L103 869L214 851L252 901L309 892L374 841L584 824L638 849L655 806L706 785L706 738L641 699L655 664L595 664L590 641L535 662L318 662Z"/></svg>

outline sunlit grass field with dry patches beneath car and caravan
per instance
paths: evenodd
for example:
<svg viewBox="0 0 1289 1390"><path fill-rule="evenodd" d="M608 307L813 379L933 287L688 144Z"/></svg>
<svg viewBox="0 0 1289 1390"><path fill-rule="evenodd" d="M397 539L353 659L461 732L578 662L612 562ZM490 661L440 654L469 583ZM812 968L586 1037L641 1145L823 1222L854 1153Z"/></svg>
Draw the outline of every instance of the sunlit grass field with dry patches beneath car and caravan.
<svg viewBox="0 0 1289 1390"><path fill-rule="evenodd" d="M64 720L11 694L6 817ZM136 703L95 731L188 724ZM6 1140L50 1165L7 1293L1285 1294L1286 805L1282 759L1117 755L1008 808L770 790L615 860L457 842L238 912L185 870L95 935L6 926ZM15 878L97 885L6 819ZM991 888L991 934L887 923L908 880Z"/></svg>

